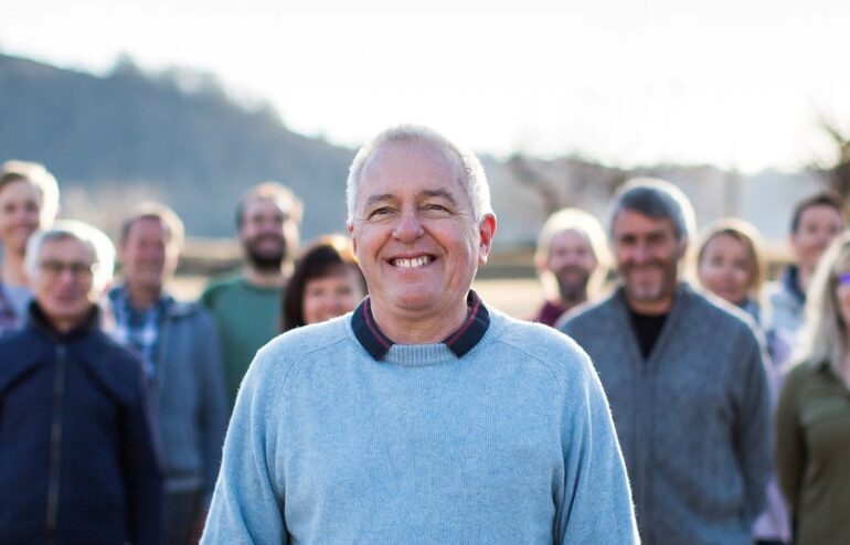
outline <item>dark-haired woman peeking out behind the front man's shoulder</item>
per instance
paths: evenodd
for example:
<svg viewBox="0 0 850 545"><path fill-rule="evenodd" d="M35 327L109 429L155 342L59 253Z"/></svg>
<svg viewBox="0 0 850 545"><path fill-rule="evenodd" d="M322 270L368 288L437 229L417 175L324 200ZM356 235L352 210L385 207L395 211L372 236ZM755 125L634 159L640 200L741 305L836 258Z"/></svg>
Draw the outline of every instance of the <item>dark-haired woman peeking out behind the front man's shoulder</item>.
<svg viewBox="0 0 850 545"><path fill-rule="evenodd" d="M283 330L342 316L354 310L365 293L351 243L340 235L325 236L295 266L284 296Z"/></svg>

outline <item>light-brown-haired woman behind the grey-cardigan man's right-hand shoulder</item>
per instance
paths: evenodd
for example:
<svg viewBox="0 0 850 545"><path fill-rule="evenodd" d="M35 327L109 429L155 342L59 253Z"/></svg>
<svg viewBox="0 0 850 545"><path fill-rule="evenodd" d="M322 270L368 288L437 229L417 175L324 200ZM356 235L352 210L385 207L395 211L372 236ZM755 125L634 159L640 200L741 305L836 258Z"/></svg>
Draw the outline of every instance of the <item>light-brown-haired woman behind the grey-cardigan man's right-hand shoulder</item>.
<svg viewBox="0 0 850 545"><path fill-rule="evenodd" d="M737 218L723 218L700 237L697 248L697 277L703 288L747 312L761 328L762 307L758 293L764 278L762 237L751 224ZM780 387L780 372L773 356L787 359L790 348L782 339L766 332L767 376L773 399ZM790 543L788 509L772 478L767 484L767 506L755 522L753 533L757 544Z"/></svg>

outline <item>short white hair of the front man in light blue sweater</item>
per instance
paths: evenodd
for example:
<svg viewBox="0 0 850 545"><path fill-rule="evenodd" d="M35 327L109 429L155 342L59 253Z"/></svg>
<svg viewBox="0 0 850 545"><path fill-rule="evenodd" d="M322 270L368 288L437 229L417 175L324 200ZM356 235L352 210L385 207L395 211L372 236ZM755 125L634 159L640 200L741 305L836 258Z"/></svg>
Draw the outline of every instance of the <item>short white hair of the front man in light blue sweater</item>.
<svg viewBox="0 0 850 545"><path fill-rule="evenodd" d="M427 127L418 125L397 125L390 127L374 136L358 151L354 160L349 168L348 181L346 183L346 203L348 205L348 223L354 222L354 206L357 205L358 189L360 178L369 159L375 151L387 143L396 142L423 142L444 149L457 157L460 165L466 172L466 191L469 194L469 201L472 203L476 222L480 222L486 214L492 214L490 204L490 185L487 182L487 175L484 172L481 161L471 152L460 148L448 138Z"/></svg>

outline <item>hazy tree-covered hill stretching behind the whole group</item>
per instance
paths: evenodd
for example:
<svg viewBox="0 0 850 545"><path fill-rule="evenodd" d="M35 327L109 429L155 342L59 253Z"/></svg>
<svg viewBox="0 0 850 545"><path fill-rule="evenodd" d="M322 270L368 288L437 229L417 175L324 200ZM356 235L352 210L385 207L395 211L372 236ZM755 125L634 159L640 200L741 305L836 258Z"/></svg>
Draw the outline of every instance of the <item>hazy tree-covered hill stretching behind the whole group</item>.
<svg viewBox="0 0 850 545"><path fill-rule="evenodd" d="M610 194L634 175L677 183L693 200L700 227L739 215L780 242L793 202L824 183L811 172L620 169L569 151L551 159L482 157L499 218L497 249L533 245L546 214L560 206L581 206L604 221ZM130 204L157 199L177 210L190 235L232 237L236 201L264 180L289 185L305 201L305 241L342 232L353 154L288 130L268 105L234 100L209 74L147 73L125 58L96 76L0 54L0 160L45 163L62 185L63 214L113 234Z"/></svg>

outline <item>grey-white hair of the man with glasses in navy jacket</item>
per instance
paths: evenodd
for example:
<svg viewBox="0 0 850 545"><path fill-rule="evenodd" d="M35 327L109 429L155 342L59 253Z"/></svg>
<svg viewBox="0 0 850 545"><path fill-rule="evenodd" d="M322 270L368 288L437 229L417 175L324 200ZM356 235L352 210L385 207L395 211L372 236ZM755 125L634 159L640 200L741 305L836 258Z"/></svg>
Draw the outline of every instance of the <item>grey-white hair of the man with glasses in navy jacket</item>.
<svg viewBox="0 0 850 545"><path fill-rule="evenodd" d="M115 268L115 246L100 229L74 220L63 220L46 229L33 234L26 242L26 255L23 266L30 277L39 270L39 257L44 243L50 241L74 239L87 245L94 254L97 267L92 281L93 288L103 290L113 279ZM93 264L93 265L94 265Z"/></svg>

